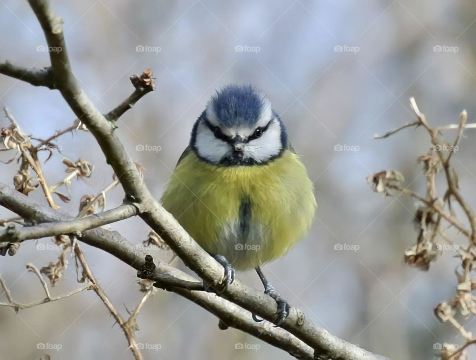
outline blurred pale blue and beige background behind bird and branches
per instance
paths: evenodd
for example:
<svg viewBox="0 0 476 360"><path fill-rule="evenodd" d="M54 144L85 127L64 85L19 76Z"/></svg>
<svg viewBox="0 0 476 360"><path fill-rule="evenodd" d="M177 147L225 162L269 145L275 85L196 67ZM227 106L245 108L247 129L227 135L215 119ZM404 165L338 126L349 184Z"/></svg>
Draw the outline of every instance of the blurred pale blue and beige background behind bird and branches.
<svg viewBox="0 0 476 360"><path fill-rule="evenodd" d="M395 360L434 359L439 343L462 339L433 316L433 306L455 293L452 251L428 272L404 264L416 239L415 204L404 197L372 193L365 178L397 169L410 189L424 196L425 178L416 158L430 146L423 129L384 133L415 120L414 96L430 123L457 123L463 109L476 118L476 5L469 1L53 1L64 20L73 71L104 113L132 91L128 77L147 67L157 77L148 94L119 120L117 130L145 180L159 198L187 146L193 122L208 98L229 83L251 83L266 93L287 125L289 137L314 180L319 209L305 239L283 259L265 266L285 299L318 326ZM0 1L1 60L26 67L49 64L41 28L26 1ZM0 106L7 106L24 131L46 138L75 119L59 92L0 76ZM0 126L7 126L6 119ZM453 161L470 204L475 130L465 132ZM453 139L456 132L448 133ZM76 215L83 194L96 195L112 182L112 170L88 132L66 134L45 164L47 180L65 177L63 157L95 165L90 179L74 179L61 211ZM155 146L140 151L138 145ZM149 147L151 148L151 147ZM138 150L136 150L138 149ZM47 153L42 156L46 159ZM12 153L0 154L6 161ZM17 165L0 168L12 184ZM440 185L440 188L441 185ZM108 208L123 198L108 192ZM442 194L440 194L442 195ZM29 196L44 201L41 190ZM11 216L3 208L0 218ZM133 243L149 229L140 220L114 224ZM456 242L465 243L460 237ZM0 272L19 302L43 299L34 274L56 261L59 251L41 250L49 239L28 241L14 257L0 259ZM340 245L341 246L340 246ZM115 305L125 314L142 294L135 271L113 256L82 246L89 264ZM352 248L352 249L351 249ZM170 253L162 253L170 259ZM74 260L52 290L78 287ZM179 261L178 266L186 269ZM188 271L188 270L187 270ZM261 289L254 272L240 273ZM1 300L5 300L4 294ZM120 327L93 292L20 311L0 309L1 359L36 359L39 343L60 344L52 359L131 359ZM218 329L218 319L179 296L159 291L138 317L137 341L158 345L145 359L288 359L281 350L238 330ZM476 323L468 321L468 329ZM100 335L98 335L100 334ZM239 350L236 344L255 345ZM259 346L256 346L259 345ZM158 349L160 348L160 349ZM475 352L472 350L472 354Z"/></svg>

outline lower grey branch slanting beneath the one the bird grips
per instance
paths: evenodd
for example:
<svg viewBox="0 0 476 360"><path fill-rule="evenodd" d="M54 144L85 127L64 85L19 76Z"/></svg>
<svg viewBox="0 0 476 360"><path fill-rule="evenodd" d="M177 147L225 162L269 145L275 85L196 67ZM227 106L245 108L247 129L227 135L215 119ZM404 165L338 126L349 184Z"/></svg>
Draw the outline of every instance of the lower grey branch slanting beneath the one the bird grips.
<svg viewBox="0 0 476 360"><path fill-rule="evenodd" d="M10 209L27 221L35 220L40 223L52 223L74 220L72 217L62 215L47 206L37 203L35 200L9 188L3 183L0 183L0 205ZM84 231L79 240L112 254L138 271L142 270L146 253L143 250L137 249L116 231L112 232L102 228L95 228ZM312 349L286 330L274 327L266 321L256 323L252 320L251 314L248 311L245 311L233 302L222 299L215 294L204 292L201 282L197 282L190 275L163 261L158 263L156 261L156 265L155 271L148 278L163 284L164 289L196 302L205 310L222 319L228 326L254 335L271 345L287 351L298 359L313 359ZM276 339L279 339L279 341ZM372 360L373 358L362 357L352 359Z"/></svg>

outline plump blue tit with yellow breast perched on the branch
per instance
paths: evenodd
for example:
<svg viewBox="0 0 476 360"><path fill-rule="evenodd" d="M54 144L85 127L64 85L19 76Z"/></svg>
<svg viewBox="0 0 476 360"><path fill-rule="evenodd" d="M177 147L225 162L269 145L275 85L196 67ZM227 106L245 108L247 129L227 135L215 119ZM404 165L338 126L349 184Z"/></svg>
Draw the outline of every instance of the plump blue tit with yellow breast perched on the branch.
<svg viewBox="0 0 476 360"><path fill-rule="evenodd" d="M256 270L281 325L290 304L261 266L306 235L317 204L313 182L265 95L231 84L211 96L161 202L224 267L225 287L236 270Z"/></svg>

